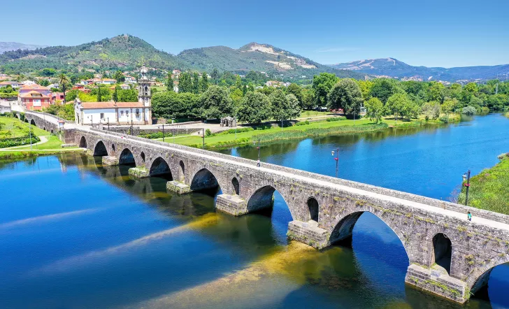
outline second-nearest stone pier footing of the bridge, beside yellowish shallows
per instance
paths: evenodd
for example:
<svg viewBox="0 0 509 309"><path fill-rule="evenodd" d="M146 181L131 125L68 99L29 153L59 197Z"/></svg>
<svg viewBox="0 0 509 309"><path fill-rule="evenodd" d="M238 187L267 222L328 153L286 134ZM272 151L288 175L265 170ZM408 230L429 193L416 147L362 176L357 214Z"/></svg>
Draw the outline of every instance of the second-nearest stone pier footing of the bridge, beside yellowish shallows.
<svg viewBox="0 0 509 309"><path fill-rule="evenodd" d="M289 222L287 236L291 240L306 243L317 249L329 246L329 232L318 227L318 222L313 220Z"/></svg>

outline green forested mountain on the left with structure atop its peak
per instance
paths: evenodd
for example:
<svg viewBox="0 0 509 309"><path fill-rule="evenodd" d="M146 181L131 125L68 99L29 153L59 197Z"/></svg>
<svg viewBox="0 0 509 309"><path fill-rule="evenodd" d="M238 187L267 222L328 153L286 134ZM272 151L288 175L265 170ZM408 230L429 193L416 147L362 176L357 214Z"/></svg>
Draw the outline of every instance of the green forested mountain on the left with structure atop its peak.
<svg viewBox="0 0 509 309"><path fill-rule="evenodd" d="M145 64L157 69L185 68L174 55L155 49L130 35L105 38L77 46L52 46L36 50L15 50L0 55L2 71L29 72L44 68L125 69Z"/></svg>

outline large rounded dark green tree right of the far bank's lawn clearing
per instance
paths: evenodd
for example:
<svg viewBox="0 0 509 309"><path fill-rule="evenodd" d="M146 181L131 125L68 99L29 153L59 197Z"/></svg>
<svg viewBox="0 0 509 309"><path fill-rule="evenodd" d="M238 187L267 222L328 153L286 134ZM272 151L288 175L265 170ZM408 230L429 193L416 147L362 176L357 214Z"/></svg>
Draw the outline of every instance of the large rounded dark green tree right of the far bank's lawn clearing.
<svg viewBox="0 0 509 309"><path fill-rule="evenodd" d="M361 88L355 80L343 78L329 92L327 107L341 108L347 115L357 115L362 106Z"/></svg>

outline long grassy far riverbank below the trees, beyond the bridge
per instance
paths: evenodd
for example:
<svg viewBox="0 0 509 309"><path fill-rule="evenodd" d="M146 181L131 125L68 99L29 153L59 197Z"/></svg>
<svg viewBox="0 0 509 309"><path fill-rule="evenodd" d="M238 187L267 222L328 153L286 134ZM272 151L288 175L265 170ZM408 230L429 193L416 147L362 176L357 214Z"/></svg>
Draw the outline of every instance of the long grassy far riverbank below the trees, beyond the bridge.
<svg viewBox="0 0 509 309"><path fill-rule="evenodd" d="M334 121L330 121L334 120ZM450 115L450 123L459 122L459 115ZM360 120L345 120L339 117L331 117L329 121L297 122L291 127L271 127L268 129L238 128L221 132L219 134L210 134L205 136L205 148L229 148L240 145L249 145L252 143L271 143L274 141L284 141L291 139L303 139L315 136L341 135L341 134L359 134L371 131L387 129L388 127L408 128L421 127L429 124L443 124L440 120L424 120L423 117L413 120L394 120L394 118L385 118L381 124L375 124L366 118ZM173 139L168 139L168 143L173 143ZM200 135L183 136L174 141L180 145L187 145L194 148L203 147L203 139Z"/></svg>

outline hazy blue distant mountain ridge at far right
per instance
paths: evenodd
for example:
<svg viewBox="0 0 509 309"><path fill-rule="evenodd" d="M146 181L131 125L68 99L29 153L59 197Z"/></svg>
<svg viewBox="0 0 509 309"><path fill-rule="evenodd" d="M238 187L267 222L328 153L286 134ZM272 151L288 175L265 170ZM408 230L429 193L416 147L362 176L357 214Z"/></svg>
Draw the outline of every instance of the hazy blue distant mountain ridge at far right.
<svg viewBox="0 0 509 309"><path fill-rule="evenodd" d="M410 66L394 58L365 59L354 62L329 65L335 69L358 71L373 76L390 76L394 78L413 78L421 80L489 80L497 74L509 73L509 64L499 66L464 66L440 68L426 66Z"/></svg>

